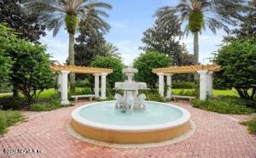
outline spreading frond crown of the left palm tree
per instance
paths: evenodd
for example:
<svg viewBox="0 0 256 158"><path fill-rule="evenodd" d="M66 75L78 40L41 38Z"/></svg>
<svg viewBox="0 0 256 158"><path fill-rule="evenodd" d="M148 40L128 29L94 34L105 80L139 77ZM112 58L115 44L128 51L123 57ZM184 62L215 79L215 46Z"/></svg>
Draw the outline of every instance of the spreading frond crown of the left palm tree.
<svg viewBox="0 0 256 158"><path fill-rule="evenodd" d="M110 9L108 3L90 0L25 0L24 8L27 12L40 13L40 20L44 21L53 36L57 34L65 23L65 17L75 15L79 20L79 30L88 29L96 36L98 31L108 32L110 25L102 18L108 14L102 8Z"/></svg>

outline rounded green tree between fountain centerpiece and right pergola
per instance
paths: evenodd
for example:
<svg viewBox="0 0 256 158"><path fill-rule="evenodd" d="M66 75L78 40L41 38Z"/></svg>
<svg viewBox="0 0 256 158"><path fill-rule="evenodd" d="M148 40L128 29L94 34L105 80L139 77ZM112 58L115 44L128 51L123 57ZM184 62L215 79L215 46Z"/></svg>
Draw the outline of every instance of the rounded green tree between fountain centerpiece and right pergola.
<svg viewBox="0 0 256 158"><path fill-rule="evenodd" d="M157 52L146 52L134 60L133 66L137 68L139 73L136 74L136 80L139 82L146 82L148 87L156 90L156 83L158 77L152 72L154 68L167 67L171 65L170 60L166 55Z"/></svg>

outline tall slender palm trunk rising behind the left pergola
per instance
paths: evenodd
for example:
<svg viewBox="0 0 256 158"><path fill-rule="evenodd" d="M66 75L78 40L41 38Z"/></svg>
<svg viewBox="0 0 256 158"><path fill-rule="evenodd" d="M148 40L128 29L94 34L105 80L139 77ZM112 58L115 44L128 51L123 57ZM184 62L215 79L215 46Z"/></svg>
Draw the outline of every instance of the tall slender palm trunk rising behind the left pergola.
<svg viewBox="0 0 256 158"><path fill-rule="evenodd" d="M74 65L74 33L69 33L69 48L68 48L69 65ZM70 73L70 91L74 93L75 88L75 73Z"/></svg>

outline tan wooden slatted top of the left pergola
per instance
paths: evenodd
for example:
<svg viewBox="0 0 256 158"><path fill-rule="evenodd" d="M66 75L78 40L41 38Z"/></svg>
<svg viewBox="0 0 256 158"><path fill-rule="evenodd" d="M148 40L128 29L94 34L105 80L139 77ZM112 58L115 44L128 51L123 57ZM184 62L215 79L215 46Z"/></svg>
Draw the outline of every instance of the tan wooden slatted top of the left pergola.
<svg viewBox="0 0 256 158"><path fill-rule="evenodd" d="M105 68L94 68L94 67L85 67L77 65L51 65L51 71L70 71L73 73L82 73L82 74L101 74L101 73L112 73L112 69Z"/></svg>

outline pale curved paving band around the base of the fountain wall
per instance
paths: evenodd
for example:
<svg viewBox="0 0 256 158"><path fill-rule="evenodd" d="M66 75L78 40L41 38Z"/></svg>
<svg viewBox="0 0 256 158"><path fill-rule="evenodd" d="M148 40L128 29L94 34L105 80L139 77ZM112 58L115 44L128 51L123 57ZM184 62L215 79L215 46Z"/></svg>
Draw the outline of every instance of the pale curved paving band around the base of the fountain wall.
<svg viewBox="0 0 256 158"><path fill-rule="evenodd" d="M99 146L104 147L110 147L110 148L125 148L125 149L140 149L140 148L153 148L153 147L159 147L169 144L177 144L179 142L182 142L183 140L189 138L195 133L195 122L190 120L191 128L187 133L184 133L181 136L178 136L177 138L172 138L170 140L166 140L159 143L150 143L150 144L111 144L107 142L101 142L97 140L93 140L90 138L84 138L83 136L79 135L79 133L76 133L73 130L73 127L70 125L70 121L67 122L67 131L70 135L72 135L74 138L77 138L81 140L82 142L89 143L89 144L96 144Z"/></svg>

